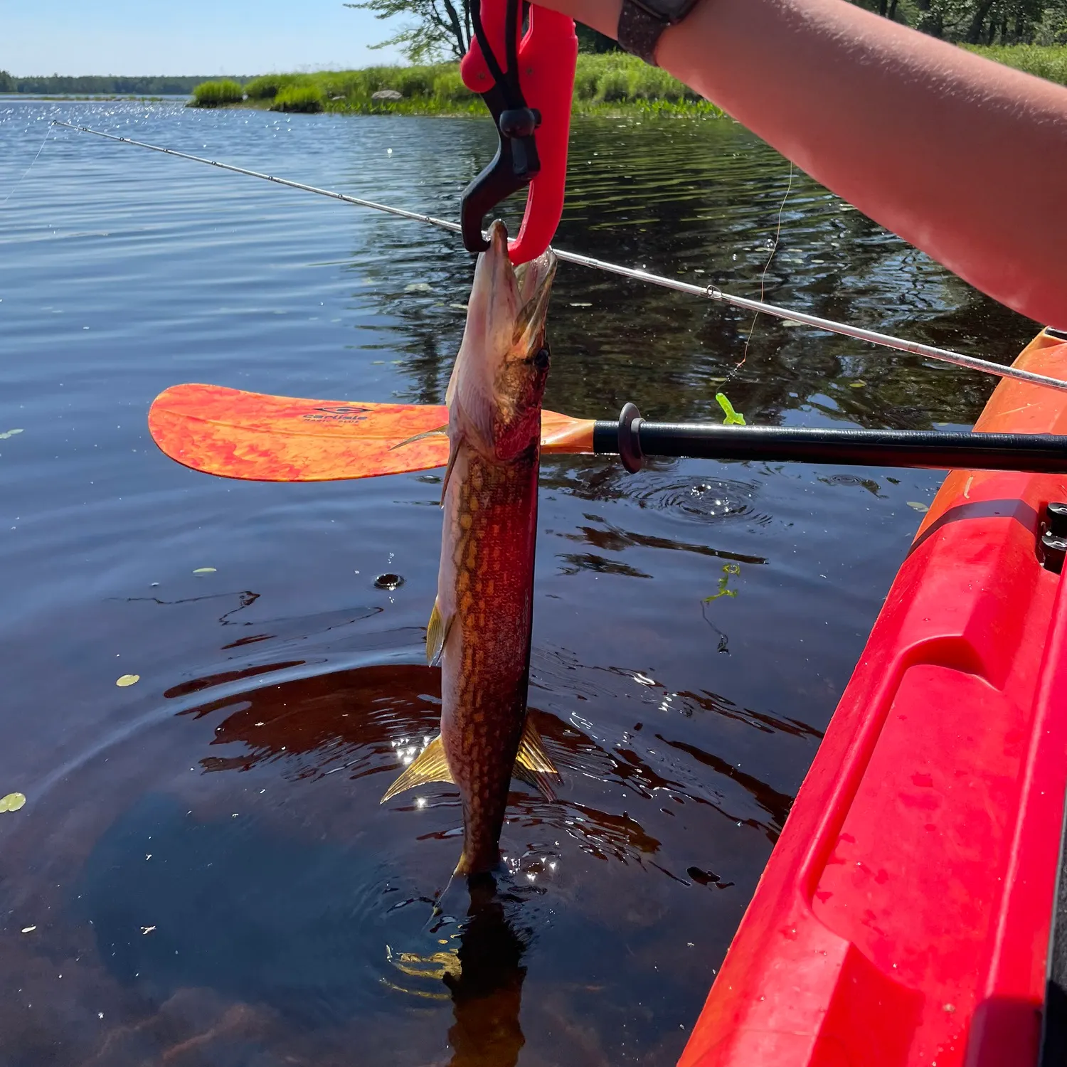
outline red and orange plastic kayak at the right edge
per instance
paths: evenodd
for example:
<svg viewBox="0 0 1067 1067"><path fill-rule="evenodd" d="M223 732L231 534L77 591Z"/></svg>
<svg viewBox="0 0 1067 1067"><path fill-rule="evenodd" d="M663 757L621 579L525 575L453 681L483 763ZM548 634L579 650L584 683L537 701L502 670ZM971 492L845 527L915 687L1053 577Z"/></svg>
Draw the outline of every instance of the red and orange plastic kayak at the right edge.
<svg viewBox="0 0 1067 1067"><path fill-rule="evenodd" d="M1016 366L1067 380L1067 333ZM1067 434L1067 401L1005 380L975 429ZM1064 475L950 472L680 1067L1067 1062L1056 505Z"/></svg>

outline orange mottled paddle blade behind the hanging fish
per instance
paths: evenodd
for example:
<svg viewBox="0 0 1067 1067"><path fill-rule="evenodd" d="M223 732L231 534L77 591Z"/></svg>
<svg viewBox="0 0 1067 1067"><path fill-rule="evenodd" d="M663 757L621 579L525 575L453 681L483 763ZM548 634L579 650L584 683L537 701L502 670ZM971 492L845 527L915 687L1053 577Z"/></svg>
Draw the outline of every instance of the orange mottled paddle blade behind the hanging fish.
<svg viewBox="0 0 1067 1067"><path fill-rule="evenodd" d="M444 405L304 400L196 384L164 389L148 412L153 440L171 459L251 481L340 481L444 466L444 434L409 439L447 421ZM592 435L592 419L542 412L545 452L591 452Z"/></svg>

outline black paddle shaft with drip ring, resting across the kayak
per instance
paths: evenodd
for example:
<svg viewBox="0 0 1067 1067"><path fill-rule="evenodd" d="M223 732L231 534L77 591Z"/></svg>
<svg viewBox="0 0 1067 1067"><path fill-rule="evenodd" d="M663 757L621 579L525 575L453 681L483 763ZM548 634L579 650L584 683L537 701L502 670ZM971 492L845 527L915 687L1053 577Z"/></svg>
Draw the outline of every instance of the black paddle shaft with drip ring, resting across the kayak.
<svg viewBox="0 0 1067 1067"><path fill-rule="evenodd" d="M648 423L634 404L618 423L598 419L593 451L618 455L627 471L644 456L834 463L856 466L1067 474L1067 436L1054 433L939 433L827 430L714 423Z"/></svg>

